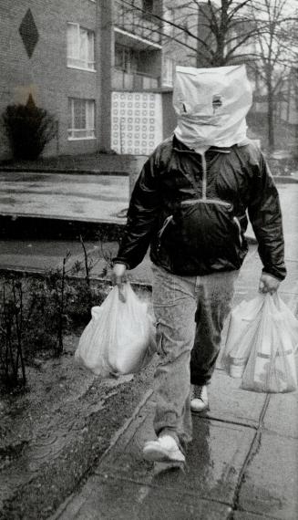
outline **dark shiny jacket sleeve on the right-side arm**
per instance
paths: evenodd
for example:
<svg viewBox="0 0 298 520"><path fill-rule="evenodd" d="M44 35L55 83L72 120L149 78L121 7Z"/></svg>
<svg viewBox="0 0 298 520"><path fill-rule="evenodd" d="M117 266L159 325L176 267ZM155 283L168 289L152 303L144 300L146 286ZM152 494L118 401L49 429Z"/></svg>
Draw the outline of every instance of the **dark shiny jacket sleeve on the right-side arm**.
<svg viewBox="0 0 298 520"><path fill-rule="evenodd" d="M263 272L283 280L284 265L283 219L279 195L272 174L261 153L259 168L252 183L248 213L259 247Z"/></svg>

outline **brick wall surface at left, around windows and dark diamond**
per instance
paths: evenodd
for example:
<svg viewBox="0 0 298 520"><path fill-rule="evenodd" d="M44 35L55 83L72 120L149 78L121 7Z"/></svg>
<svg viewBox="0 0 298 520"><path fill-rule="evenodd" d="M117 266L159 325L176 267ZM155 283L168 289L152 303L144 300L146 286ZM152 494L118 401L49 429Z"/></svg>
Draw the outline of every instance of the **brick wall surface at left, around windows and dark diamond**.
<svg viewBox="0 0 298 520"><path fill-rule="evenodd" d="M38 31L32 57L28 57L19 34L22 19L30 8ZM2 0L0 5L0 112L8 104L26 103L29 93L36 105L47 109L59 121L60 153L97 149L97 140L67 140L67 98L96 99L100 87L97 73L67 68L67 22L77 22L90 30L97 26L97 3L91 0ZM97 38L98 45L99 37ZM97 67L100 68L100 56ZM97 125L98 127L98 125ZM0 158L8 156L7 143L0 129ZM99 128L97 136L100 137ZM57 152L57 141L50 143L46 155Z"/></svg>

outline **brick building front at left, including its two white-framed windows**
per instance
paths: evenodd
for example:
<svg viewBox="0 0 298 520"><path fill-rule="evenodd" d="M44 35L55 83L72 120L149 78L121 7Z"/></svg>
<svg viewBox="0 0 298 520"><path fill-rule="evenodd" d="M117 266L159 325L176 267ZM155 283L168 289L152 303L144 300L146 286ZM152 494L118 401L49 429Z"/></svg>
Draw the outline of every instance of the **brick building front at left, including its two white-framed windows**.
<svg viewBox="0 0 298 520"><path fill-rule="evenodd" d="M47 147L47 154L97 148L101 95L98 16L93 0L1 2L0 111L12 103L26 103L31 94L37 106L54 114L57 139ZM78 45L75 49L75 39L80 49ZM85 129L76 129L76 117L85 120ZM5 157L8 151L2 128L0 133L0 157Z"/></svg>

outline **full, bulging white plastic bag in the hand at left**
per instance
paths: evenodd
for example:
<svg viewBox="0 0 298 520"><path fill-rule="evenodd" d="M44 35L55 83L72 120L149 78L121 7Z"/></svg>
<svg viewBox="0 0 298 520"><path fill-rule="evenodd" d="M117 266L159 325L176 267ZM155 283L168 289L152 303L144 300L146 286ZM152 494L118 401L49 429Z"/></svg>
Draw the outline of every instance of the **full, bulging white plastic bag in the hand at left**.
<svg viewBox="0 0 298 520"><path fill-rule="evenodd" d="M125 303L115 286L100 307L92 307L92 319L75 353L78 361L102 377L139 372L156 351L147 304L139 300L130 284L124 291Z"/></svg>

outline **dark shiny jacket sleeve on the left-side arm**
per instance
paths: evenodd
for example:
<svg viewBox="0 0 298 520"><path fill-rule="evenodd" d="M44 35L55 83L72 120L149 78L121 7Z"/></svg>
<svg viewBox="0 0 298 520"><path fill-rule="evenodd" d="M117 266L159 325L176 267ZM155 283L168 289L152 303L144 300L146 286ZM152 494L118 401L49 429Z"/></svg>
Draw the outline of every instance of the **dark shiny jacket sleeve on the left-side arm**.
<svg viewBox="0 0 298 520"><path fill-rule="evenodd" d="M143 260L155 230L160 208L159 164L153 153L145 162L134 186L128 207L128 220L114 263L133 269Z"/></svg>

